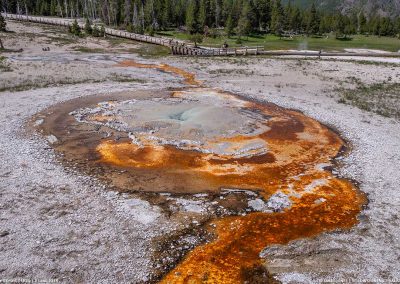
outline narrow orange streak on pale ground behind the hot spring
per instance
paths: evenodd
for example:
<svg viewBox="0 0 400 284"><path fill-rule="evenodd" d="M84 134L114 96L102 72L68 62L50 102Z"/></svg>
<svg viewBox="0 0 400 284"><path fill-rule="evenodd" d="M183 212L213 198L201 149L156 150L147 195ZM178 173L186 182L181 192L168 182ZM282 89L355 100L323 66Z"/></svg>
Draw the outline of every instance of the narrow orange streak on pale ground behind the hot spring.
<svg viewBox="0 0 400 284"><path fill-rule="evenodd" d="M196 80L196 77L193 73L187 72L183 69L168 65L168 64L143 64L138 63L133 60L124 60L118 64L120 67L136 67L136 68L148 68L148 69L157 69L160 71L173 73L175 75L181 76L184 78L184 83L187 85L199 86L201 85L200 81Z"/></svg>

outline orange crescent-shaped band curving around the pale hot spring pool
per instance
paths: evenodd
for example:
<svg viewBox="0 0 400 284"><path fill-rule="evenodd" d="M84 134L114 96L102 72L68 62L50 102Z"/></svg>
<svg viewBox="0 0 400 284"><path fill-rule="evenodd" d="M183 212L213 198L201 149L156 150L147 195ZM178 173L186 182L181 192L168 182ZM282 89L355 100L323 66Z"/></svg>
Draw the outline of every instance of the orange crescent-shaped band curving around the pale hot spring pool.
<svg viewBox="0 0 400 284"><path fill-rule="evenodd" d="M194 183L202 182L204 188L257 189L268 198L287 179L313 170L316 164L329 162L342 146L335 133L299 112L256 103L248 103L248 107L272 117L265 122L268 131L258 136L216 137L208 142L240 146L255 138L262 139L268 148L262 155L235 158L187 151L154 144L153 139L144 135L140 136L143 147L131 142L104 140L97 151L102 162L119 167L162 169L165 176L193 174Z"/></svg>

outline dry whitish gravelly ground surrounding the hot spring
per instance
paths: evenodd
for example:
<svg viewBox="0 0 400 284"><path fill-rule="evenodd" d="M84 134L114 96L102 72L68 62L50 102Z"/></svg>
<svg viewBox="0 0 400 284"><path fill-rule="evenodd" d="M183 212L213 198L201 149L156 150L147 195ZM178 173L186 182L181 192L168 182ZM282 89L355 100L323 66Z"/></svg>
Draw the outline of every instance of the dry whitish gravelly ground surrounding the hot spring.
<svg viewBox="0 0 400 284"><path fill-rule="evenodd" d="M134 42L116 48L107 39L71 39L53 28L8 24L16 33L1 35L5 46L24 51L1 54L8 67L0 69L0 279L148 279L152 240L176 224L145 201L63 168L47 141L26 130L33 114L61 101L180 85L170 74L115 66L132 58L182 67L208 86L298 109L337 129L352 146L338 174L358 181L369 198L359 225L267 248L266 265L285 283L400 281L400 122L340 104L336 91L354 87L354 78L400 83L399 60L143 59L126 54L143 48ZM50 51L42 51L46 46ZM104 52L78 52L76 46Z"/></svg>

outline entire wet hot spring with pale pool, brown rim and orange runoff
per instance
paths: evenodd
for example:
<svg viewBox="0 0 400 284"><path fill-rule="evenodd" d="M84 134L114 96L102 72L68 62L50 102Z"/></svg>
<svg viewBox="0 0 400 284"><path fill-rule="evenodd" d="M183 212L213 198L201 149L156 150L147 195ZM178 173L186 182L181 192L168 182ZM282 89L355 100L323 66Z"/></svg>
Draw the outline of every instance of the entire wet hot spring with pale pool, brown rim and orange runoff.
<svg viewBox="0 0 400 284"><path fill-rule="evenodd" d="M119 66L174 73L188 86L75 99L35 123L64 161L194 224L160 241L162 283L269 281L259 257L267 246L357 223L365 199L327 170L344 142L326 126L169 65ZM174 240L185 235L195 241Z"/></svg>

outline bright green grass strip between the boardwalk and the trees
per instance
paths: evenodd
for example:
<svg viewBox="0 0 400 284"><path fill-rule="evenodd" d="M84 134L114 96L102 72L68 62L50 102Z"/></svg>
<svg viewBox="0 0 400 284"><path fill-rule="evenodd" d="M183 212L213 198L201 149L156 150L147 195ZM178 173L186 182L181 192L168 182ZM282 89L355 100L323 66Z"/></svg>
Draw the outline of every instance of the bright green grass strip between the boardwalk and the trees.
<svg viewBox="0 0 400 284"><path fill-rule="evenodd" d="M164 31L158 35L174 37L177 39L187 40L189 35L176 31ZM275 35L260 35L249 36L242 38L242 44L236 44L236 36L231 38L217 37L206 38L203 40L204 46L221 46L224 41L229 44L229 47L237 46L264 46L267 50L287 50L287 49L310 49L310 50L325 50L325 51L343 51L345 48L367 48L380 49L386 51L399 51L400 39L391 37L377 36L362 36L355 35L351 40L338 40L333 34L328 37L314 38L296 36L293 39L282 38Z"/></svg>

